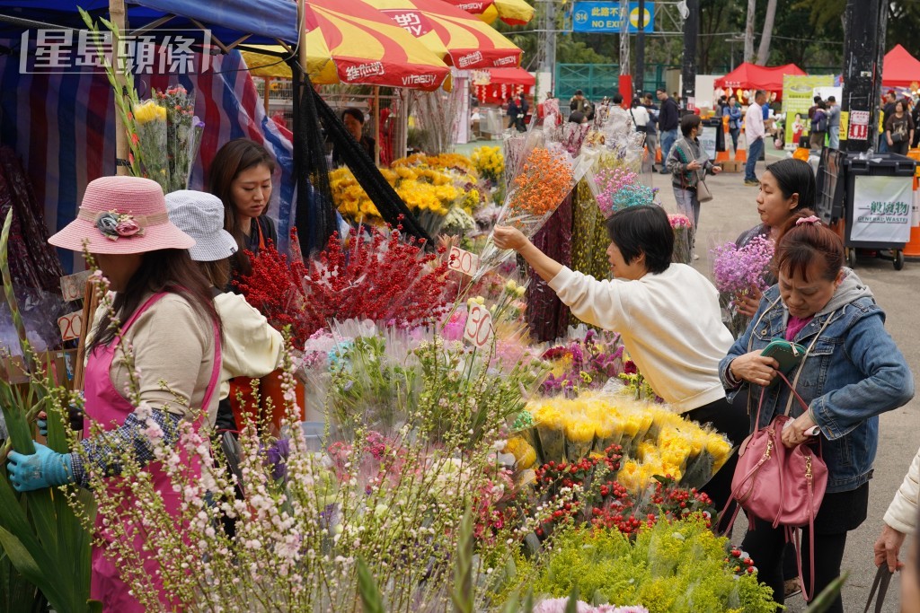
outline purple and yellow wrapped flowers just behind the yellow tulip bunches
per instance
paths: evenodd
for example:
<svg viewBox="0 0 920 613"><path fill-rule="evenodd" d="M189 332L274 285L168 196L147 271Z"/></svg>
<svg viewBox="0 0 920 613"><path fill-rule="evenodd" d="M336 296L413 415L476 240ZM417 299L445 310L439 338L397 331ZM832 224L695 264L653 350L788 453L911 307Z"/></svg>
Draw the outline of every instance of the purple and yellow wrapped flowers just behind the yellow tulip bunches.
<svg viewBox="0 0 920 613"><path fill-rule="evenodd" d="M604 387L623 372L623 345L615 333L588 330L583 339L546 349L543 359L554 365L540 385L547 396Z"/></svg>

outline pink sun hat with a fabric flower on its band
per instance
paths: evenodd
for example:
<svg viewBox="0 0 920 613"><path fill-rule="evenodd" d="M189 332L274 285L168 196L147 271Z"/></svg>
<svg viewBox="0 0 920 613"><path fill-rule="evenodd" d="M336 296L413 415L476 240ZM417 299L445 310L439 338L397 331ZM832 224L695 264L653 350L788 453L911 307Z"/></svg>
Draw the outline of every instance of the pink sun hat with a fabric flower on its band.
<svg viewBox="0 0 920 613"><path fill-rule="evenodd" d="M48 242L91 254L142 254L188 249L195 239L179 230L167 213L163 189L140 176L103 176L86 186L76 219Z"/></svg>

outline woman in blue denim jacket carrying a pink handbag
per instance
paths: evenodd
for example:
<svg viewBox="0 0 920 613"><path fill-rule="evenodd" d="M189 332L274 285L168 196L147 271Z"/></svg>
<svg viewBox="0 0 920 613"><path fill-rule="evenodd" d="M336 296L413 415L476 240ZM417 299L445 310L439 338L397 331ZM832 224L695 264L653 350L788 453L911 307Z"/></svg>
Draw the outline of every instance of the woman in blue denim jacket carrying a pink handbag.
<svg viewBox="0 0 920 613"><path fill-rule="evenodd" d="M820 593L840 574L846 533L866 519L879 414L914 396L911 371L885 331L885 313L856 274L843 267L843 260L844 245L837 234L810 210L799 211L777 242L779 282L765 292L752 323L719 363L729 398L747 394L752 420L765 392L756 427L789 410L796 418L782 434L789 448L807 441L814 426L820 430L828 482L814 521L813 586L808 585L811 573L804 573L809 594ZM793 369L789 379L809 404L807 412L791 402L785 383L763 387L776 378L778 364L760 354L776 338L810 347L800 372ZM808 528L802 532L802 542L809 542ZM782 527L757 519L742 544L780 604L784 545ZM802 568L810 567L809 548L802 547L801 553ZM828 610L842 612L842 599Z"/></svg>

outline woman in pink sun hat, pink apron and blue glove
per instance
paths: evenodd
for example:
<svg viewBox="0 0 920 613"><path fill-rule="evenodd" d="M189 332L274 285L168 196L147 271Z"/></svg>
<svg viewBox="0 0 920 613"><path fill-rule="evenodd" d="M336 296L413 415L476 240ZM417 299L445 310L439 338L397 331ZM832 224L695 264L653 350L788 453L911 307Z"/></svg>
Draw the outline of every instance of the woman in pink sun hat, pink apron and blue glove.
<svg viewBox="0 0 920 613"><path fill-rule="evenodd" d="M204 419L213 421L221 370L221 320L214 310L211 284L189 255L195 241L169 221L163 191L154 181L106 176L86 187L76 219L49 242L93 255L115 292L112 311L118 322L110 325L109 314L98 312L87 339L88 419L80 448L61 454L36 444L32 455L11 454L10 482L19 492L74 482L86 486L90 472L116 477L121 472L119 455L132 449L167 513L178 515L181 494L173 491L166 472L154 460L151 432L157 428L153 425L162 431L157 437L176 446L180 422L188 420L197 427ZM133 376L125 364L125 347L133 355L139 407L125 397ZM93 436L91 423L102 426L105 436ZM198 459L187 457L184 450L179 456L190 479L197 479ZM111 479L108 486L117 482ZM125 507L135 502L126 490L118 495L128 498L121 502ZM104 515L97 516L95 536L109 542L117 538L103 529L104 521L124 527L128 536L123 538L133 539L132 547L144 559L161 603L169 608L155 579L158 565L141 548L140 528L124 517ZM106 550L117 553L115 547L100 545L92 551L91 597L102 601L104 611L144 611Z"/></svg>

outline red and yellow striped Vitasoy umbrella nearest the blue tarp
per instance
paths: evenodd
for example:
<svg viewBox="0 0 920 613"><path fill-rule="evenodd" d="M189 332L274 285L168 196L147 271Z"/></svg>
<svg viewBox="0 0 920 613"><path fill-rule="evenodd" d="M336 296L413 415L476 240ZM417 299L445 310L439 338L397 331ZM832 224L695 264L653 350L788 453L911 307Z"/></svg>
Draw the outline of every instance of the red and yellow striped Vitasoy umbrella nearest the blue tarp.
<svg viewBox="0 0 920 613"><path fill-rule="evenodd" d="M306 69L316 84L431 91L450 75L420 40L362 0L307 0L305 25Z"/></svg>

